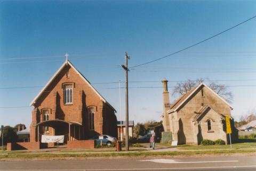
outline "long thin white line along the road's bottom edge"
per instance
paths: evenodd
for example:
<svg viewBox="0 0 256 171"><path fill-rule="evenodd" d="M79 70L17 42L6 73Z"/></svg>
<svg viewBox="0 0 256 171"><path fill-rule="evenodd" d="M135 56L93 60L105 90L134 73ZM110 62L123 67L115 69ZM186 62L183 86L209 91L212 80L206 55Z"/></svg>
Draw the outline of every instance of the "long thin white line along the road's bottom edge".
<svg viewBox="0 0 256 171"><path fill-rule="evenodd" d="M217 166L217 167L172 167L172 168L120 168L120 169L31 169L31 170L0 170L0 171L104 171L104 170L178 170L178 169L214 169L214 168L250 168L254 166Z"/></svg>

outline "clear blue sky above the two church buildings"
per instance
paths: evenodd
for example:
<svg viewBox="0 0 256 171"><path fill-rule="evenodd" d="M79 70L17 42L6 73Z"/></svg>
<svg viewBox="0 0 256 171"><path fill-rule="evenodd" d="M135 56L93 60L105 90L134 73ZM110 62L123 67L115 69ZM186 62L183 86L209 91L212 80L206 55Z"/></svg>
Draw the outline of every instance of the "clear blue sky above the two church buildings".
<svg viewBox="0 0 256 171"><path fill-rule="evenodd" d="M256 15L255 1L0 1L0 124L31 122L30 102L65 61L91 83L124 81L129 65L171 54ZM129 72L130 118L160 121L161 80L226 84L238 119L255 108L256 19L203 44ZM250 80L250 81L248 81ZM241 87L250 86L251 87ZM38 86L38 87L37 87ZM93 84L117 110L118 83ZM122 87L124 84L122 83ZM172 88L169 89L172 91ZM170 97L173 101L177 96ZM21 107L22 108L15 108ZM14 107L14 108L1 108ZM124 90L122 89L124 118Z"/></svg>

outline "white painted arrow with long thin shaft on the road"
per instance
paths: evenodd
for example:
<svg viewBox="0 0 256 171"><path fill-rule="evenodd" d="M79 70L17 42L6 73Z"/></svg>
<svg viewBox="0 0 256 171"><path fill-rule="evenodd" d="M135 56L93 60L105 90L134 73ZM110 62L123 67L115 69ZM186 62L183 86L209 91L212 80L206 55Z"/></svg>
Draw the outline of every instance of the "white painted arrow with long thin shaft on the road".
<svg viewBox="0 0 256 171"><path fill-rule="evenodd" d="M238 160L221 160L221 161L179 161L179 160L173 160L173 159L150 159L150 160L139 160L139 161L152 161L152 162L155 162L155 163L164 163L164 164L238 162Z"/></svg>

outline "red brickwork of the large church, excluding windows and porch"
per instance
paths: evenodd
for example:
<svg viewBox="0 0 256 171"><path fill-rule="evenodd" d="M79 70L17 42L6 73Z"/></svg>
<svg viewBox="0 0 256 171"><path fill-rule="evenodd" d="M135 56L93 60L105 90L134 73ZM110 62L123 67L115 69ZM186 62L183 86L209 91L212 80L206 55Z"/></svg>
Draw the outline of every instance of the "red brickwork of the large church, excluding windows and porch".
<svg viewBox="0 0 256 171"><path fill-rule="evenodd" d="M66 73L69 72L67 78ZM63 101L63 83L72 83L73 85L73 104L65 105ZM31 142L37 141L37 129L35 124L43 121L42 109L49 109L50 119L62 119L83 124L81 129L81 139L89 139L97 134L109 134L117 136L116 115L114 110L105 104L100 97L93 91L81 76L77 74L69 65L66 66L44 90L41 97L36 100L33 110L33 121L30 127ZM94 111L94 131L89 130L88 107L95 107ZM103 116L105 116L103 118ZM34 129L33 129L34 127ZM40 126L42 128L42 126ZM39 129L42 133L42 129ZM55 130L50 127L49 133L55 134ZM72 134L71 134L72 136ZM74 139L74 138L73 138ZM78 140L78 137L76 137Z"/></svg>

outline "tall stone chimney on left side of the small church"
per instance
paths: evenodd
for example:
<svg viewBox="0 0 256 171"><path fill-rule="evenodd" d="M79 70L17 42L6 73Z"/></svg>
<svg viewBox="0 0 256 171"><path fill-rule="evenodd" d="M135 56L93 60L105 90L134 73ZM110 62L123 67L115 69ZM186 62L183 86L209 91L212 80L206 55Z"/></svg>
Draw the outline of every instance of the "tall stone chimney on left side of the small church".
<svg viewBox="0 0 256 171"><path fill-rule="evenodd" d="M164 125L164 131L170 131L170 124L169 124L169 116L167 114L167 110L170 109L170 95L168 91L168 86L167 86L167 80L163 79L163 108L164 108L164 113L163 113L163 125Z"/></svg>

